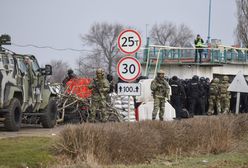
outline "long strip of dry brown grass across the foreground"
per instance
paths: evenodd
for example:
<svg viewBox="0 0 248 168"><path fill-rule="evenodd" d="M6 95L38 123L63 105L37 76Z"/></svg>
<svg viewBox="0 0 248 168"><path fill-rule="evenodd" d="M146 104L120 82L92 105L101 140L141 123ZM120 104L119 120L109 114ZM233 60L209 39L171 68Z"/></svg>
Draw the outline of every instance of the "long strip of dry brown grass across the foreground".
<svg viewBox="0 0 248 168"><path fill-rule="evenodd" d="M248 115L213 116L182 121L68 125L55 150L87 163L149 163L158 155L227 152L248 133Z"/></svg>

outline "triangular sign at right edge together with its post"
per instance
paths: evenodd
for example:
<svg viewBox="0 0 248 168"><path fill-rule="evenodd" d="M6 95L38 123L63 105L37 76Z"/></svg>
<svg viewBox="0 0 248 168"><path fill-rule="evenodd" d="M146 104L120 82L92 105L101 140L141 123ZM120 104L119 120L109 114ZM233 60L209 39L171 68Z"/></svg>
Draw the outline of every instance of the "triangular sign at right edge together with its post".
<svg viewBox="0 0 248 168"><path fill-rule="evenodd" d="M239 72L235 76L227 90L230 92L237 92L235 114L238 114L240 105L240 93L248 93L248 85L245 81L244 75L241 72Z"/></svg>

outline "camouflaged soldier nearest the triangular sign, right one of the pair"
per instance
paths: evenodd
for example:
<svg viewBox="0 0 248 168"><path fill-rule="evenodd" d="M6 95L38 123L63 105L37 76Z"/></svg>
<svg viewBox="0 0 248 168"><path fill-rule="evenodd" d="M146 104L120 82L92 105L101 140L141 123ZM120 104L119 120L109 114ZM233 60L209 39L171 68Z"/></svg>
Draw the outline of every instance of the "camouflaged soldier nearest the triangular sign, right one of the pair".
<svg viewBox="0 0 248 168"><path fill-rule="evenodd" d="M229 91L227 91L229 85L229 77L223 76L223 80L220 84L220 105L221 113L223 114L227 114L230 112L231 94Z"/></svg>

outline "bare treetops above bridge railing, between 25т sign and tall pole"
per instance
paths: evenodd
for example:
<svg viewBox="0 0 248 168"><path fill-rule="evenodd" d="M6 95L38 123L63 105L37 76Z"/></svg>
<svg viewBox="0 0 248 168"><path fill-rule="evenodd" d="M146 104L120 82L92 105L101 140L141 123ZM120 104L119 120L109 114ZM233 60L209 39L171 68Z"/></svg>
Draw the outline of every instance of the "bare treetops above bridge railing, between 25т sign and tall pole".
<svg viewBox="0 0 248 168"><path fill-rule="evenodd" d="M150 36L157 45L184 47L193 40L192 30L185 24L176 26L170 22L156 24L152 27Z"/></svg>

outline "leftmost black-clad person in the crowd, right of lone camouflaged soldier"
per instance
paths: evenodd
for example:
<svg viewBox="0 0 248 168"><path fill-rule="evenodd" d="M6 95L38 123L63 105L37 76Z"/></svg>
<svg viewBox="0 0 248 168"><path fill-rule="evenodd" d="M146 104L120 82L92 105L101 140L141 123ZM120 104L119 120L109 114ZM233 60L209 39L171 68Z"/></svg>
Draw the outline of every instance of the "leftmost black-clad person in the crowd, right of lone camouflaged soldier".
<svg viewBox="0 0 248 168"><path fill-rule="evenodd" d="M170 103L172 107L176 110L176 118L181 119L182 111L182 98L186 97L184 87L177 76L173 76L169 80L169 85L171 86L171 98Z"/></svg>

